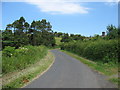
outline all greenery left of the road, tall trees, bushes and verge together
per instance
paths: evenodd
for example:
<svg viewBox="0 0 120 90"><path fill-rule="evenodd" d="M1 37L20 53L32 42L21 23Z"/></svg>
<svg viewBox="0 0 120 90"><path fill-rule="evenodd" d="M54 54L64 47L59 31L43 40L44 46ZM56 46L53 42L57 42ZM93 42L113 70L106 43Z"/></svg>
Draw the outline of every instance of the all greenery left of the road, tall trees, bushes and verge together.
<svg viewBox="0 0 120 90"><path fill-rule="evenodd" d="M55 46L55 37L46 19L29 24L20 17L0 32L4 88L20 88L52 64L48 48Z"/></svg>

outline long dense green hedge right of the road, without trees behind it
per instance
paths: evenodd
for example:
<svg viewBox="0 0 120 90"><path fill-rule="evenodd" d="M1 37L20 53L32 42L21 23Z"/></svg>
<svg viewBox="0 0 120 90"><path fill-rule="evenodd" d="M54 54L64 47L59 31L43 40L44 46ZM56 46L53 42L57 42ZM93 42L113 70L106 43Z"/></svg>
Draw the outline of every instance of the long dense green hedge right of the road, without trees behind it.
<svg viewBox="0 0 120 90"><path fill-rule="evenodd" d="M118 62L118 40L77 41L61 44L62 50L71 51L94 61Z"/></svg>

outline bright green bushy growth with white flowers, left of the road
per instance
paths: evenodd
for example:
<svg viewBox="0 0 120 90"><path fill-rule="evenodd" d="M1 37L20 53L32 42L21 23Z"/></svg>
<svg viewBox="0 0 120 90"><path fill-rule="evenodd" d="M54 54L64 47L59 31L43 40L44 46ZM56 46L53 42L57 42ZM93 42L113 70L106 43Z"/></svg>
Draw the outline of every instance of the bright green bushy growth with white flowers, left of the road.
<svg viewBox="0 0 120 90"><path fill-rule="evenodd" d="M2 51L2 73L22 70L41 60L47 54L44 46L25 46L15 49L7 46Z"/></svg>

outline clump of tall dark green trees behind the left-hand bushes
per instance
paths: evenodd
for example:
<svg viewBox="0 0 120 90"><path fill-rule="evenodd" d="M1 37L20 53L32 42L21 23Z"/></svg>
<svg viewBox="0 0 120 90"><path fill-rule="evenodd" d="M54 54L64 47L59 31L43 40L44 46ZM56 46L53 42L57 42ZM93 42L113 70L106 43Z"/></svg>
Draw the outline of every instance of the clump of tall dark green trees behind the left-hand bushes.
<svg viewBox="0 0 120 90"><path fill-rule="evenodd" d="M54 33L50 22L46 19L33 21L31 25L26 22L24 17L8 24L6 30L2 32L2 48L14 46L15 48L24 45L46 45L55 46Z"/></svg>

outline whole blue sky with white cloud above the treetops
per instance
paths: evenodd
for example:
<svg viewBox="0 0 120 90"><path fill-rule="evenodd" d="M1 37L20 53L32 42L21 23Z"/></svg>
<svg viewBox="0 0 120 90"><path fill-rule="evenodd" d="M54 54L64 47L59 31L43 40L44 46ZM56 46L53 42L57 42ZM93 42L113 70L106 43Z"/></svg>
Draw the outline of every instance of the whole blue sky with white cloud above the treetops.
<svg viewBox="0 0 120 90"><path fill-rule="evenodd" d="M107 25L117 26L117 8L117 4L108 2L2 2L0 29L23 16L29 23L47 19L53 31L100 35Z"/></svg>

